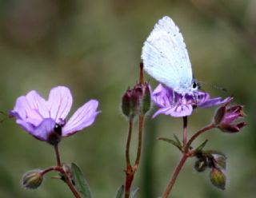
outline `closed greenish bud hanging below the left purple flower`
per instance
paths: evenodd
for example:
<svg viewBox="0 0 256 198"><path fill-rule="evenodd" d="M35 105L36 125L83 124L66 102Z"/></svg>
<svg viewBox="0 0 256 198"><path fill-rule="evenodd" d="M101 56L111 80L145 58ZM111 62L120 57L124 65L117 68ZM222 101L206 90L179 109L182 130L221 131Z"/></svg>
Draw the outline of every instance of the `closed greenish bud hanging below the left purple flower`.
<svg viewBox="0 0 256 198"><path fill-rule="evenodd" d="M33 170L22 176L22 186L27 189L36 189L42 184L42 171Z"/></svg>

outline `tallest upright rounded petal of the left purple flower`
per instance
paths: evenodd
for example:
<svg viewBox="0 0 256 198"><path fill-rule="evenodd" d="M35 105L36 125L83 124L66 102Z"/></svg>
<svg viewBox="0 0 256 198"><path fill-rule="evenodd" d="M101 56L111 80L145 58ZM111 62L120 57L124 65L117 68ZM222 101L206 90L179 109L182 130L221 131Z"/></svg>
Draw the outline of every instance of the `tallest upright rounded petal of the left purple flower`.
<svg viewBox="0 0 256 198"><path fill-rule="evenodd" d="M62 121L65 120L73 102L70 89L64 86L54 87L50 90L49 100L47 102L50 117L57 123L60 119Z"/></svg>

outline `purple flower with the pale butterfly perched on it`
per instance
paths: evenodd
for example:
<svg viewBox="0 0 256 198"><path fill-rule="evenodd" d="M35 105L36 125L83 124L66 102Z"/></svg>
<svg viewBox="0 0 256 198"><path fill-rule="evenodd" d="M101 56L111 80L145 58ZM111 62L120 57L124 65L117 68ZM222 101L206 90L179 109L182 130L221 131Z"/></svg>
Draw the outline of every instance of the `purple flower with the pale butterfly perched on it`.
<svg viewBox="0 0 256 198"><path fill-rule="evenodd" d="M153 117L163 113L171 117L190 116L195 107L207 108L215 105L221 105L229 100L227 97L222 101L221 97L210 98L209 93L195 91L194 95L175 93L173 89L159 84L152 93L154 104L159 107Z"/></svg>

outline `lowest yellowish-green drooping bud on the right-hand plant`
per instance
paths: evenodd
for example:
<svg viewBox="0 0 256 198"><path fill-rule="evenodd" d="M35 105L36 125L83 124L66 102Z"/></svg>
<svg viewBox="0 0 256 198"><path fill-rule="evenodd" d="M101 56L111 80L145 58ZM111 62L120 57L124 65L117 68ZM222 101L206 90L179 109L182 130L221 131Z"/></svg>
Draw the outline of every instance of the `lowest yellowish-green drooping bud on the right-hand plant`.
<svg viewBox="0 0 256 198"><path fill-rule="evenodd" d="M226 175L219 168L212 168L210 172L211 184L215 187L225 190L226 187Z"/></svg>

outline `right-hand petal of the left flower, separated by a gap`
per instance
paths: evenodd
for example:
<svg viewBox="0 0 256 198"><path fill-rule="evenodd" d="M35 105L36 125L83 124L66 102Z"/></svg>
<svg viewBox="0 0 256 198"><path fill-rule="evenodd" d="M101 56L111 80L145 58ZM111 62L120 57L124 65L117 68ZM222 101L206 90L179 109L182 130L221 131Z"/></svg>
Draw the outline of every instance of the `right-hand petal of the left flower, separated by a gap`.
<svg viewBox="0 0 256 198"><path fill-rule="evenodd" d="M97 108L98 101L96 100L90 100L82 105L62 128L62 137L70 136L93 124L96 116L100 113Z"/></svg>

